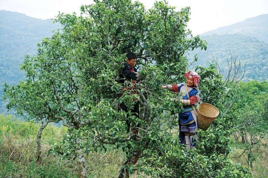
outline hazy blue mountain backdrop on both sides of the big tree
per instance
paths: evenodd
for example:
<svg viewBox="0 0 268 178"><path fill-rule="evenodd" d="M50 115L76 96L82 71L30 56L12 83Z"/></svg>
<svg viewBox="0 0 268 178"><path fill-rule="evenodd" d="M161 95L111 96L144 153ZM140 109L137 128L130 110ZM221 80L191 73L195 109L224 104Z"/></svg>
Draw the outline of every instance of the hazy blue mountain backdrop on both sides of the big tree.
<svg viewBox="0 0 268 178"><path fill-rule="evenodd" d="M19 71L19 63L26 54L37 54L37 43L50 37L52 30L61 26L53 20L41 20L18 12L0 11L0 97L2 83L17 84L24 79ZM208 42L207 50L194 50L188 59L198 55L197 64L208 66L207 62L218 60L227 69L230 52L246 65L246 79L268 80L268 14L248 18L245 21L221 27L201 34ZM5 113L5 105L0 99L0 112Z"/></svg>

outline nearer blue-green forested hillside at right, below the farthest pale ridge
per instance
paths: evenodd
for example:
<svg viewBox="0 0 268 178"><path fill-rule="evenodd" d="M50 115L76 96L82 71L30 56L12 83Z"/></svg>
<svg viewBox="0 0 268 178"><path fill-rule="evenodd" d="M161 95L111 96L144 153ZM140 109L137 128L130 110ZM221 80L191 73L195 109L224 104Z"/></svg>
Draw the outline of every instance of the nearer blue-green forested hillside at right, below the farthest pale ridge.
<svg viewBox="0 0 268 178"><path fill-rule="evenodd" d="M197 54L197 64L208 66L207 62L217 59L220 67L227 71L227 58L233 57L246 64L245 80L268 80L268 44L256 38L241 34L224 34L202 36L208 42L207 50L190 52L188 58Z"/></svg>

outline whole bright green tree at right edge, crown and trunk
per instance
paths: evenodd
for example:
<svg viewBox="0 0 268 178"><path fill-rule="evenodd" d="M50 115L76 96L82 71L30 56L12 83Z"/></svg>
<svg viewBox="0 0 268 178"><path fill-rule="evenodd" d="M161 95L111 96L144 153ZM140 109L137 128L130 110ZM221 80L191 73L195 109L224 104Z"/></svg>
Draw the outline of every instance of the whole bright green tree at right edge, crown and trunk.
<svg viewBox="0 0 268 178"><path fill-rule="evenodd" d="M256 154L252 150L266 146L265 140L268 136L268 84L267 82L250 81L239 83L236 101L232 112L234 113L232 126L245 145L244 151L237 157L247 154L248 166ZM249 137L249 139L248 139Z"/></svg>

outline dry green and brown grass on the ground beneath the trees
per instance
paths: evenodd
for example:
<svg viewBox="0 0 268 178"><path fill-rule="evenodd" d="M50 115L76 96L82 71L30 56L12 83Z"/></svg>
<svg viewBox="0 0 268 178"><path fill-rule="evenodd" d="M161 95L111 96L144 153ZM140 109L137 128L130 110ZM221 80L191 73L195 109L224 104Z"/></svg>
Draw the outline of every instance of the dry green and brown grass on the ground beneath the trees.
<svg viewBox="0 0 268 178"><path fill-rule="evenodd" d="M62 139L66 128L49 124L42 133L41 162L35 162L36 135L39 126L35 123L17 121L12 116L0 115L0 178L76 178L78 162L61 160L55 155L47 156L50 145ZM244 145L240 141L232 145L229 157L239 156ZM252 175L268 178L268 148L253 150L257 155L253 162ZM233 163L247 166L247 155L231 158ZM86 159L88 178L115 178L125 160L121 150L108 148L106 152L91 152ZM135 178L134 175L131 176Z"/></svg>

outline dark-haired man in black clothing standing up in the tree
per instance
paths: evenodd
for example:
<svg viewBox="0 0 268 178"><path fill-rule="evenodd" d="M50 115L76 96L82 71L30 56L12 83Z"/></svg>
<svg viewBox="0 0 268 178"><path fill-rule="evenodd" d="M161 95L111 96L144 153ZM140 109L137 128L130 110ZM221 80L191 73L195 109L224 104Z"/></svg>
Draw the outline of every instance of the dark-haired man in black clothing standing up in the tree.
<svg viewBox="0 0 268 178"><path fill-rule="evenodd" d="M120 83L124 83L124 91L130 91L130 94L137 94L136 90L136 82L139 80L139 73L137 69L134 67L137 62L137 56L133 52L128 52L126 54L127 61L124 63L124 67L122 71L119 73ZM131 99L131 102L134 103L134 107L131 109L132 116L136 116L139 118L139 102L137 100ZM128 112L129 108L125 103L119 103L118 111L123 110L124 112ZM126 124L128 126L127 130L130 130L130 120L129 115L127 115ZM137 137L139 137L139 132L137 128L132 129L132 132L135 133Z"/></svg>

